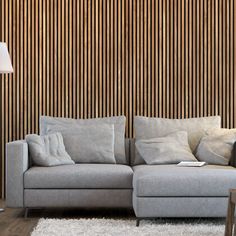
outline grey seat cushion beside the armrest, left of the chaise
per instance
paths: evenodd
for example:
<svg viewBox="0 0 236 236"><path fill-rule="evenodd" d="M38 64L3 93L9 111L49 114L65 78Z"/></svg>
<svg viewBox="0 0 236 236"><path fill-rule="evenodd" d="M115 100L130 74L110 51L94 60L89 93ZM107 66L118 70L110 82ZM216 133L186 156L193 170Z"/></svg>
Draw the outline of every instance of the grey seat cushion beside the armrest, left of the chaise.
<svg viewBox="0 0 236 236"><path fill-rule="evenodd" d="M130 189L133 170L118 164L75 164L31 167L24 174L27 189Z"/></svg>

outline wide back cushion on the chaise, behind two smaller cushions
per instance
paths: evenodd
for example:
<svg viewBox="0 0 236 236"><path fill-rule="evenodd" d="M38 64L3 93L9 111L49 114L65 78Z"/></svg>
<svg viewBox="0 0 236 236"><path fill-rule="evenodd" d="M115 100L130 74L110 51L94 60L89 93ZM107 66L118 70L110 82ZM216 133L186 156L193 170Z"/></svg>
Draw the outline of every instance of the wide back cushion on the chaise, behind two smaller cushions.
<svg viewBox="0 0 236 236"><path fill-rule="evenodd" d="M165 119L136 116L134 118L135 139L151 139L163 137L176 131L188 133L189 146L195 153L200 139L209 128L220 128L220 116L190 118L190 119ZM136 153L134 164L145 163Z"/></svg>

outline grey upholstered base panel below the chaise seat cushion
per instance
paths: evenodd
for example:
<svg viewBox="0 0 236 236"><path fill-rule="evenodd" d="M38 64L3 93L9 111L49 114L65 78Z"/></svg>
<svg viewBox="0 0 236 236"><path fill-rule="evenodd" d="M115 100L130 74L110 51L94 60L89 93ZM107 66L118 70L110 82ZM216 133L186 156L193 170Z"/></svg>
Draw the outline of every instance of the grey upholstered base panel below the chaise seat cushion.
<svg viewBox="0 0 236 236"><path fill-rule="evenodd" d="M225 217L227 197L136 197L137 217Z"/></svg>

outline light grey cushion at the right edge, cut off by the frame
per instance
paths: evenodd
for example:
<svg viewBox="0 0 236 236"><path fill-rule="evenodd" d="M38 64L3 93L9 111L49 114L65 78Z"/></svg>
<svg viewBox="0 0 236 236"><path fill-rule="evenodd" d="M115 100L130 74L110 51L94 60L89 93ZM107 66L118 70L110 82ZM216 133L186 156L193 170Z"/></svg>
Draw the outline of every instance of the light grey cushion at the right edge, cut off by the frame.
<svg viewBox="0 0 236 236"><path fill-rule="evenodd" d="M236 129L210 129L201 139L196 157L214 165L228 165L233 144L236 142Z"/></svg>

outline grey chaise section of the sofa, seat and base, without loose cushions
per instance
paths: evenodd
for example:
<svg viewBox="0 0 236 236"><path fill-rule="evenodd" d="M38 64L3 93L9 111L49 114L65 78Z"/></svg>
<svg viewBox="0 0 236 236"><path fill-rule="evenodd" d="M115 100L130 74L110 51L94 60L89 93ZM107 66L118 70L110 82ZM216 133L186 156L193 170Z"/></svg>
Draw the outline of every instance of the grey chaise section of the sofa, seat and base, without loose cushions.
<svg viewBox="0 0 236 236"><path fill-rule="evenodd" d="M137 224L155 217L224 217L236 169L207 165L134 166L133 208Z"/></svg>

